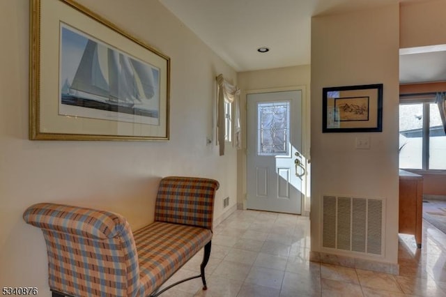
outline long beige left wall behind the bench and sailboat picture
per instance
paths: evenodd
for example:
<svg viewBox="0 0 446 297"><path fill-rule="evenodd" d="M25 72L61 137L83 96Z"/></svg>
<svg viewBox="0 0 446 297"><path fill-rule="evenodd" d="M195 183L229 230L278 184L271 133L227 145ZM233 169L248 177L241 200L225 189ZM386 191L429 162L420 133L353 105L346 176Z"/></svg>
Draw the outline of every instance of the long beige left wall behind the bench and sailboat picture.
<svg viewBox="0 0 446 297"><path fill-rule="evenodd" d="M223 73L236 82L235 71L156 0L79 2L171 57L171 139L29 141L29 1L0 1L0 287L38 287L39 296L49 296L45 243L41 231L22 220L33 203L116 211L135 229L153 220L162 176L220 181L216 218L224 217L237 198L236 150L226 146L220 157L215 144L206 146L206 137L215 138L215 76ZM223 209L228 196L231 204Z"/></svg>

